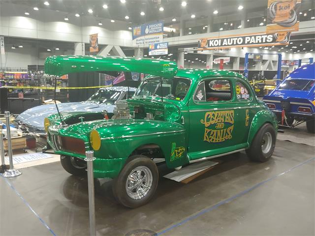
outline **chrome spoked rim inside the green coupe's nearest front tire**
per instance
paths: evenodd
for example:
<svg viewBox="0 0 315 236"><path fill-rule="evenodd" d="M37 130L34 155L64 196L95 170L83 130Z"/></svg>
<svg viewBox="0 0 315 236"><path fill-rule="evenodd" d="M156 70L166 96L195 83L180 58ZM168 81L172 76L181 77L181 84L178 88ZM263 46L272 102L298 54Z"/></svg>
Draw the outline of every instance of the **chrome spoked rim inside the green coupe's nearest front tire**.
<svg viewBox="0 0 315 236"><path fill-rule="evenodd" d="M151 170L146 166L133 169L126 180L126 192L132 199L142 199L150 191L153 183Z"/></svg>

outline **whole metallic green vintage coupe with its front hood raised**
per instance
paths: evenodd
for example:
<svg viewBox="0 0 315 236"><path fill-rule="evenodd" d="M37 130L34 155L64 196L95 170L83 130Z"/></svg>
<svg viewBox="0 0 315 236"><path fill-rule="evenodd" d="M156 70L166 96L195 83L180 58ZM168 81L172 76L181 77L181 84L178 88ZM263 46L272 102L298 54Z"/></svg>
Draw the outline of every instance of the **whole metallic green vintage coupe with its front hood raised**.
<svg viewBox="0 0 315 236"><path fill-rule="evenodd" d="M162 59L56 56L45 62L45 72L53 76L81 71L150 74L131 99L117 102L111 119L103 113L45 119L48 146L61 155L63 168L84 174L85 152L94 150L94 177L114 178L114 196L126 207L144 205L154 195L155 158L180 169L241 150L264 162L274 151L276 116L238 73L178 69Z"/></svg>

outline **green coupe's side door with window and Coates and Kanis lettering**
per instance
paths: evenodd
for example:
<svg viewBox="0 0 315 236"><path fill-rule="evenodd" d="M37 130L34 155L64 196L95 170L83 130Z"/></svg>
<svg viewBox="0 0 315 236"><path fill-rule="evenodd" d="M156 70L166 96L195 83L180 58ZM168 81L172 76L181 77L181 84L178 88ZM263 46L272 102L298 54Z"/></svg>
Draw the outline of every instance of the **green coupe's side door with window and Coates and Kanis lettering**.
<svg viewBox="0 0 315 236"><path fill-rule="evenodd" d="M230 78L199 82L189 101L189 158L212 156L233 149L235 99Z"/></svg>

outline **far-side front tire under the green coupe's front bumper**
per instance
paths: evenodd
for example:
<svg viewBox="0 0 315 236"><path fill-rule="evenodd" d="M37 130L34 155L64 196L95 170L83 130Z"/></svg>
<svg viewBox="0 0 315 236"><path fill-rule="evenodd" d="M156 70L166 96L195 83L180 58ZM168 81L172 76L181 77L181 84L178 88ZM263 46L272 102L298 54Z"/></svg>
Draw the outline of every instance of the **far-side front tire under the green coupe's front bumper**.
<svg viewBox="0 0 315 236"><path fill-rule="evenodd" d="M87 163L80 158L61 155L60 162L63 169L74 176L83 176L87 173Z"/></svg>

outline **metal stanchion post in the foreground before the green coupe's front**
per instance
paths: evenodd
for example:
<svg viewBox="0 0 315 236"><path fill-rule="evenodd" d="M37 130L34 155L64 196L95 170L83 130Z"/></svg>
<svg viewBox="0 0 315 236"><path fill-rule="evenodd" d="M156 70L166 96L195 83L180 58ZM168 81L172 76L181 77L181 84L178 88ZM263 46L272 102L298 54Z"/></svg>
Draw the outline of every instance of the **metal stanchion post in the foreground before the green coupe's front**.
<svg viewBox="0 0 315 236"><path fill-rule="evenodd" d="M90 236L95 236L95 198L94 198L94 174L93 161L94 151L86 151L84 159L88 165L88 189L89 189L89 212L90 212Z"/></svg>

